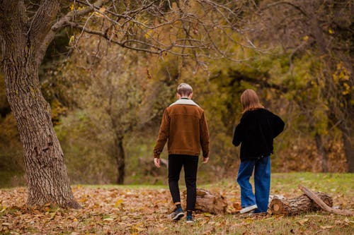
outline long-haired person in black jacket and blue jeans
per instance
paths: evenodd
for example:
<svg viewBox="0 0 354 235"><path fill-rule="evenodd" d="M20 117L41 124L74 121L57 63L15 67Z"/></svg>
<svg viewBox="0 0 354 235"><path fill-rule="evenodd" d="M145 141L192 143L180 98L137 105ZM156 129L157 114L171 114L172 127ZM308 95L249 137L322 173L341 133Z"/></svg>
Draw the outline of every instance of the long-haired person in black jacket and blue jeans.
<svg viewBox="0 0 354 235"><path fill-rule="evenodd" d="M273 139L284 129L284 121L263 107L254 90L245 90L241 95L244 109L240 123L234 131L232 143L241 144L237 182L241 187L241 211L263 213L268 209L270 191L270 155ZM249 178L254 169L253 194Z"/></svg>

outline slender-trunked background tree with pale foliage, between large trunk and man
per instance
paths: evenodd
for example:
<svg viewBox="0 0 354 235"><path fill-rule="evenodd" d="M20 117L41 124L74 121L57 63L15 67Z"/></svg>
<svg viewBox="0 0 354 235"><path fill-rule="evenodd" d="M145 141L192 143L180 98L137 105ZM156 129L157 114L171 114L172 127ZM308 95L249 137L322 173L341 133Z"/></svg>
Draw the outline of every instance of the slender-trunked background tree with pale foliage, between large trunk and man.
<svg viewBox="0 0 354 235"><path fill-rule="evenodd" d="M98 136L105 138L109 155L117 163L116 183L124 183L125 135L137 127L142 111L144 92L147 92L146 71L139 69L144 56L127 53L117 45L108 48L98 37L79 43L81 52L74 52L62 68L66 84L76 84L74 100L84 109L96 126ZM79 84L79 85L78 85Z"/></svg>

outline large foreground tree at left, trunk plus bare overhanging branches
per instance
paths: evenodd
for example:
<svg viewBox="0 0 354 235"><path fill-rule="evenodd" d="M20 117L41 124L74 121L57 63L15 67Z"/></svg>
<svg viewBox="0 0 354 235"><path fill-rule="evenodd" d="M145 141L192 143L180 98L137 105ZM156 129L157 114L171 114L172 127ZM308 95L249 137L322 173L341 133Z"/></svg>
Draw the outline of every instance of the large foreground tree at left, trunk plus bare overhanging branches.
<svg viewBox="0 0 354 235"><path fill-rule="evenodd" d="M23 143L28 205L79 207L38 79L47 47L61 28L78 28L129 49L193 56L202 65L202 55L227 56L211 32L227 35L227 29L238 28L240 7L218 1L0 1L6 95ZM173 27L178 34L159 35Z"/></svg>

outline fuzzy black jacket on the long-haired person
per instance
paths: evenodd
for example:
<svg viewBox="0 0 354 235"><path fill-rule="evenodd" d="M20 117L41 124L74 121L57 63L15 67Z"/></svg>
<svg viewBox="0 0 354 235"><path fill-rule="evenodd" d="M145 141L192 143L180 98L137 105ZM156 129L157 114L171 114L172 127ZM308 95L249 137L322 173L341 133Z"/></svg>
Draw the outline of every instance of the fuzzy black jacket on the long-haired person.
<svg viewBox="0 0 354 235"><path fill-rule="evenodd" d="M267 109L245 112L236 126L232 143L241 143L241 161L273 153L273 138L284 130L284 121Z"/></svg>

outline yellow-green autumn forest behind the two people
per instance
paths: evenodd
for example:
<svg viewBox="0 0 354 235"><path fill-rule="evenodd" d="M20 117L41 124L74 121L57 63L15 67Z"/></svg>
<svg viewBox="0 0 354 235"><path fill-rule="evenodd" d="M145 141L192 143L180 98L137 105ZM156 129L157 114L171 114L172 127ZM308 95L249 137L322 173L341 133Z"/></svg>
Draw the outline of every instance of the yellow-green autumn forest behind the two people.
<svg viewBox="0 0 354 235"><path fill-rule="evenodd" d="M210 162L200 166L199 182L236 176L232 134L248 88L286 123L273 172L353 172L353 3L310 2L244 1L243 31L229 32L235 43L211 36L232 52L224 59L156 56L63 29L47 50L40 82L71 182L166 183L152 149L179 83L192 85L210 128ZM102 16L93 17L95 27ZM0 114L0 186L22 186L22 144L1 73Z"/></svg>

